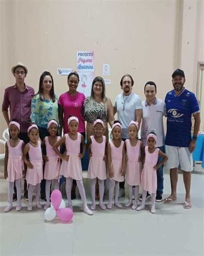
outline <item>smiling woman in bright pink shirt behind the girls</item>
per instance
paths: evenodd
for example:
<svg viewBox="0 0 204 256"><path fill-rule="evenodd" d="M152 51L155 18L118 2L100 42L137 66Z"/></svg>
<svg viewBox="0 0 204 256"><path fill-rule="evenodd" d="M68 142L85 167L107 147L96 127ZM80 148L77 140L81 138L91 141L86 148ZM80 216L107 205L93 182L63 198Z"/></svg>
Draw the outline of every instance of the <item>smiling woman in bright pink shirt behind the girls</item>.
<svg viewBox="0 0 204 256"><path fill-rule="evenodd" d="M83 93L77 92L77 87L79 84L79 75L76 71L72 71L67 78L67 83L69 90L65 93L62 93L59 96L58 107L59 107L59 124L60 124L60 136L62 136L62 127L63 133L67 134L69 132L68 128L68 117L73 115L79 120L78 132L83 135L84 140L86 139L86 130L84 120L81 114L83 102L85 96ZM71 199L76 198L75 189L77 183L73 179L73 186L71 191Z"/></svg>

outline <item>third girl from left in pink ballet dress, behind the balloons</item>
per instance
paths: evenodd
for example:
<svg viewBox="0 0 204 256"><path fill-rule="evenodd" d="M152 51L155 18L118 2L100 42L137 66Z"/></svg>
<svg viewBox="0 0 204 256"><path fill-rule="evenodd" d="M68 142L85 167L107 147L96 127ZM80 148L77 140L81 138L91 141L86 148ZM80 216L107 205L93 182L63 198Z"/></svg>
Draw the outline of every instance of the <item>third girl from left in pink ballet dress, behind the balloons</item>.
<svg viewBox="0 0 204 256"><path fill-rule="evenodd" d="M46 205L44 209L46 210L50 206L49 193L52 180L54 181L55 189L59 189L59 170L60 170L60 158L53 150L53 145L56 141L59 141L61 137L56 136L58 132L58 123L56 120L50 120L47 124L47 130L49 131L49 136L45 137L42 142L42 147L46 147L46 155L43 155L45 160L45 171L44 179L46 179L45 193L46 193ZM58 147L58 150L60 147Z"/></svg>

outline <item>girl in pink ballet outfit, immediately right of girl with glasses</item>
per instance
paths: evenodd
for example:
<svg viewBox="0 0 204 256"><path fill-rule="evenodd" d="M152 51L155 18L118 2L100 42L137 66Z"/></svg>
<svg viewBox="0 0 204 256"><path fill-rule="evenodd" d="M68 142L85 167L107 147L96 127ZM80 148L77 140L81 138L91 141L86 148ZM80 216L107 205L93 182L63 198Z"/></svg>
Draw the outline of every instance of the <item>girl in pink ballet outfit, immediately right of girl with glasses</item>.
<svg viewBox="0 0 204 256"><path fill-rule="evenodd" d="M122 205L118 202L119 183L124 181L125 174L125 148L124 141L121 140L121 129L121 123L114 121L111 131L113 139L107 145L108 178L110 179L108 209L112 208L113 193L114 205L122 208Z"/></svg>

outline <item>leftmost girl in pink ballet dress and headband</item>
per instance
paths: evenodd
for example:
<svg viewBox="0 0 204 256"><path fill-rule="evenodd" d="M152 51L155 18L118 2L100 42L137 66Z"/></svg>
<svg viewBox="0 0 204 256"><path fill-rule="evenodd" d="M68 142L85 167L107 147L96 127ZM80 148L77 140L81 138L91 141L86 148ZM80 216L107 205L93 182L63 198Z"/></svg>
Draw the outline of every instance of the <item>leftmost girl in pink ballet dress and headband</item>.
<svg viewBox="0 0 204 256"><path fill-rule="evenodd" d="M17 206L16 211L20 211L21 205L21 179L23 178L24 163L22 159L22 150L25 144L18 138L20 125L18 122L12 121L9 123L9 132L11 139L5 144L4 158L4 178L9 181L9 205L4 209L5 212L12 209L13 186L15 181L17 191Z"/></svg>

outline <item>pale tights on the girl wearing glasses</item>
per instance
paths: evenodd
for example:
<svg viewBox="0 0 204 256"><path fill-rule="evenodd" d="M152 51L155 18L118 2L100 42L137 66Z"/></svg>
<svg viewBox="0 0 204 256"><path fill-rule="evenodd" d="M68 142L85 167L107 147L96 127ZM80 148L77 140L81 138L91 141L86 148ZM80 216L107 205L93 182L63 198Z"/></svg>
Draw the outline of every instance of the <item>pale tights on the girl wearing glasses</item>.
<svg viewBox="0 0 204 256"><path fill-rule="evenodd" d="M99 180L99 206L103 210L106 209L105 205L103 204L103 195L104 195L104 180ZM96 209L96 200L95 200L95 191L96 191L96 178L91 179L91 199L92 199L92 205L91 209Z"/></svg>

